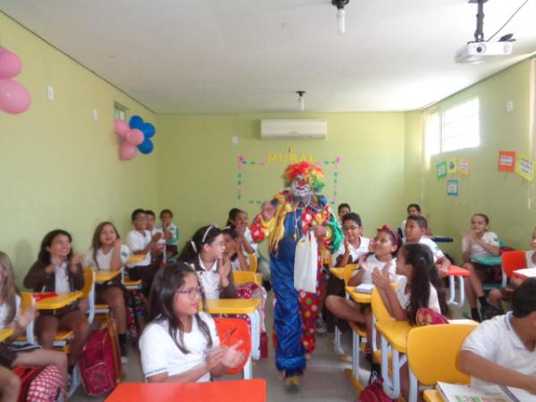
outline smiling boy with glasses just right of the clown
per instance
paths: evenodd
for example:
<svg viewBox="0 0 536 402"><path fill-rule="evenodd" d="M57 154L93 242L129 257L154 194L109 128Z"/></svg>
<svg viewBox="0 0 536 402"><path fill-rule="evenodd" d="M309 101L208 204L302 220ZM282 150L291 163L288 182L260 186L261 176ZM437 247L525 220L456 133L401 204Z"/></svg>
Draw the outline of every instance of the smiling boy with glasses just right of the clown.
<svg viewBox="0 0 536 402"><path fill-rule="evenodd" d="M342 232L344 242L339 250L331 255L332 266L356 264L359 257L369 251L371 240L363 237L361 216L354 213L345 214L342 217Z"/></svg>

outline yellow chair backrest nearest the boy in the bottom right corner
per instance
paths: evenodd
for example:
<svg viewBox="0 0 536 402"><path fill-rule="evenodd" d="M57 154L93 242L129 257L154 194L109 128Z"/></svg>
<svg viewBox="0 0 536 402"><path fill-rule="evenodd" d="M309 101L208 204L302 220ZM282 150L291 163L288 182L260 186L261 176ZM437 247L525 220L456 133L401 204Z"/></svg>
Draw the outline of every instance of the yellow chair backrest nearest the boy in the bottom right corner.
<svg viewBox="0 0 536 402"><path fill-rule="evenodd" d="M438 381L467 384L469 375L458 370L457 354L477 322L448 323L418 327L407 336L407 360L419 383Z"/></svg>

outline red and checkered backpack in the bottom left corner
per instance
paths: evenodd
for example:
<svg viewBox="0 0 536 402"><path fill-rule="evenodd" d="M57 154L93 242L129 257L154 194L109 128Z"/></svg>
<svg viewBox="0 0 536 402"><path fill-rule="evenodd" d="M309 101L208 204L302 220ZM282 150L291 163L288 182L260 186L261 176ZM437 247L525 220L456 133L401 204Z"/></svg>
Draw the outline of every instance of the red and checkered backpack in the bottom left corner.
<svg viewBox="0 0 536 402"><path fill-rule="evenodd" d="M18 402L55 402L65 392L63 375L55 365L20 365L13 373L21 379Z"/></svg>

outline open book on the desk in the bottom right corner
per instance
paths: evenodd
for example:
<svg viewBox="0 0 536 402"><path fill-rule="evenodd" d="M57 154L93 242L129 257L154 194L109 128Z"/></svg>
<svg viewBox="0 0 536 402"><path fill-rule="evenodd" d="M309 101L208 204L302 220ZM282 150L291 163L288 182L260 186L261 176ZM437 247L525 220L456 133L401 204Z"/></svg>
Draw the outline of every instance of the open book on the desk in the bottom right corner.
<svg viewBox="0 0 536 402"><path fill-rule="evenodd" d="M445 402L536 402L536 395L524 389L498 385L471 386L438 382L437 389Z"/></svg>

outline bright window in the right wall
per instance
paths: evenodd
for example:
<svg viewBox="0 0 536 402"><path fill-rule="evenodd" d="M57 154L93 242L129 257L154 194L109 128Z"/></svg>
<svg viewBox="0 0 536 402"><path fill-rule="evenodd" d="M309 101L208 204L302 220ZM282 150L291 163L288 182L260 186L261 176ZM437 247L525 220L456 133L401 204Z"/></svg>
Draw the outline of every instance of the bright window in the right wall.
<svg viewBox="0 0 536 402"><path fill-rule="evenodd" d="M478 98L443 112L441 152L480 145L480 105Z"/></svg>

